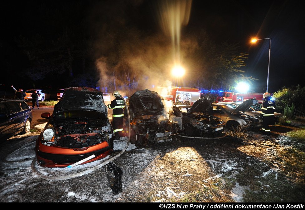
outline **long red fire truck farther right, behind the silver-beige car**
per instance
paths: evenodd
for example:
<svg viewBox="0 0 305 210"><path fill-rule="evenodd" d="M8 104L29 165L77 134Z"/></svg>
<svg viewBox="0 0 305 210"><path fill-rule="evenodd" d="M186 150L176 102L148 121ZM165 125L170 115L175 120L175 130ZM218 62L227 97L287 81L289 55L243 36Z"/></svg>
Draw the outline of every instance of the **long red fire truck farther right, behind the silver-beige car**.
<svg viewBox="0 0 305 210"><path fill-rule="evenodd" d="M253 99L254 97L258 100L259 104L263 102L264 93L235 93L235 92L220 92L216 98L218 102L243 102L247 99Z"/></svg>

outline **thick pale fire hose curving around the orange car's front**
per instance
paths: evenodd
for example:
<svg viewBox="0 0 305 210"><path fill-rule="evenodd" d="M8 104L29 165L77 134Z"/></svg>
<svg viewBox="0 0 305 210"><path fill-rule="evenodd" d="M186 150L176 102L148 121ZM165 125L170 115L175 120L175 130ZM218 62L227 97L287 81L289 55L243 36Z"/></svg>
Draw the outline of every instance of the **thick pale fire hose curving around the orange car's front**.
<svg viewBox="0 0 305 210"><path fill-rule="evenodd" d="M117 154L116 156L108 159L107 161L104 161L103 163L97 165L97 166L94 166L90 169L87 169L87 170L84 170L82 172L79 172L79 173L76 173L76 174L72 174L72 175L68 175L68 176L48 176L48 175L44 175L42 174L41 172L39 172L37 169L36 169L36 158L33 159L32 161L32 164L31 164L31 168L32 168L32 171L34 172L34 174L38 175L39 177L45 179L45 180L68 180L68 179L72 179L72 178L75 178L75 177L79 177L79 176L82 176L82 175L85 175L85 174L89 174L97 169L100 169L101 167L105 166L106 164L108 164L109 162L111 161L114 161L115 159L117 159L119 156L121 156L125 150L127 149L128 145L129 145L129 142L130 142L130 116L129 116L129 110L128 110L128 106L126 104L126 101L124 100L125 102L125 107L126 107L126 110L127 110L127 115L128 115L128 129L129 129L129 135L128 135L128 141L126 143L126 146L125 148L119 153Z"/></svg>

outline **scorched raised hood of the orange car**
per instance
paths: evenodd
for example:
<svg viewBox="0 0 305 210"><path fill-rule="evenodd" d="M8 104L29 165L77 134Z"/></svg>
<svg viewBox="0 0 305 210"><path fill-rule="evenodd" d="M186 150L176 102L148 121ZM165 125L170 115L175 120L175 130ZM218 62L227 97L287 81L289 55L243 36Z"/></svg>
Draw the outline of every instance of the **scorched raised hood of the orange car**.
<svg viewBox="0 0 305 210"><path fill-rule="evenodd" d="M103 93L90 87L66 88L61 100L54 105L54 112L62 110L95 110L107 116Z"/></svg>

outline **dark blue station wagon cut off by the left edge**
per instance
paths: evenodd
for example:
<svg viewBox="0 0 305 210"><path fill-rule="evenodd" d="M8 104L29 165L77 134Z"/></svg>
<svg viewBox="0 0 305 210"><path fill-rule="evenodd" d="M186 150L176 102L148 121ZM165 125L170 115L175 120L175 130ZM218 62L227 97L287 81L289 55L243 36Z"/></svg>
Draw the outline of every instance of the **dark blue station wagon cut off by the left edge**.
<svg viewBox="0 0 305 210"><path fill-rule="evenodd" d="M30 132L32 119L32 110L26 102L16 98L1 98L0 140Z"/></svg>

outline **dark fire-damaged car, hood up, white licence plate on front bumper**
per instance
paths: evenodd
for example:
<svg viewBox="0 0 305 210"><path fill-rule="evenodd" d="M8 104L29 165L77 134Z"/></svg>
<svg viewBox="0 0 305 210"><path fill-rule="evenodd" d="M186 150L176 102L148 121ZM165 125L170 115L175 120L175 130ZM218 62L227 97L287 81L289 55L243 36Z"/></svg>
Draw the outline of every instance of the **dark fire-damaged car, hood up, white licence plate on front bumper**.
<svg viewBox="0 0 305 210"><path fill-rule="evenodd" d="M206 114L213 100L201 98L190 105L174 105L170 119L179 125L180 131L188 136L219 138L225 136L225 122L215 116Z"/></svg>

